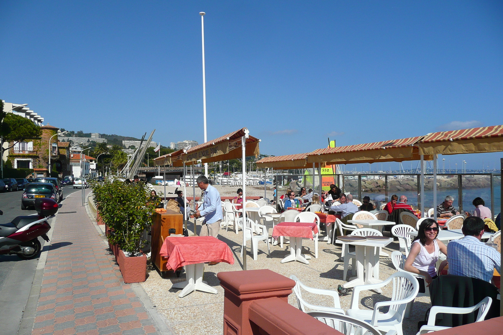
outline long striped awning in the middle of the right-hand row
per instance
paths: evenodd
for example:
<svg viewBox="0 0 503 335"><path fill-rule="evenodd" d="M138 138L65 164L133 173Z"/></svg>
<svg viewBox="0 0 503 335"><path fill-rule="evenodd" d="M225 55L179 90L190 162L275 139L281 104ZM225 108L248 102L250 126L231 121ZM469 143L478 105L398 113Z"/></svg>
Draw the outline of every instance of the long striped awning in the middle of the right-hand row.
<svg viewBox="0 0 503 335"><path fill-rule="evenodd" d="M423 136L391 141L355 144L351 146L317 149L307 155L307 163L356 164L375 162L402 162L419 160L415 145ZM425 157L431 160L432 157Z"/></svg>

